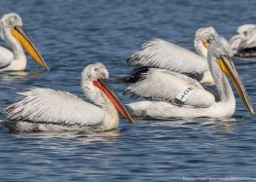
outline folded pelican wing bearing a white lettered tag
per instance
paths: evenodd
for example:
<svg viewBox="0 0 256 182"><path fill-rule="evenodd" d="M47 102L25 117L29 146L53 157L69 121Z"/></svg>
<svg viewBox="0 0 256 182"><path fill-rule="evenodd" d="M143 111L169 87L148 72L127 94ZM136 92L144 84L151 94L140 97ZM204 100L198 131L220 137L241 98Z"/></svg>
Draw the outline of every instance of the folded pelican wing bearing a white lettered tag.
<svg viewBox="0 0 256 182"><path fill-rule="evenodd" d="M184 106L209 107L215 102L214 95L205 91L195 79L156 68L150 68L147 73L143 73L136 83L128 87L125 94L181 104L177 96L188 88L193 90L193 93L183 100Z"/></svg>

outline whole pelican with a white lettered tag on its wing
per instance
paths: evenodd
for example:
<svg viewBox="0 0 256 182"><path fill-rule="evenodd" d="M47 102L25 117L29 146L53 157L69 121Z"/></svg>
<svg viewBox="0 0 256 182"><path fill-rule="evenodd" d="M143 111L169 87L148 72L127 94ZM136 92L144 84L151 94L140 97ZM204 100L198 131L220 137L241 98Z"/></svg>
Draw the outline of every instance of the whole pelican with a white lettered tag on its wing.
<svg viewBox="0 0 256 182"><path fill-rule="evenodd" d="M125 91L126 94L151 99L128 104L131 116L142 118L232 117L236 109L236 99L227 77L235 85L247 109L254 115L251 101L243 87L232 56L230 45L224 38L215 37L211 40L207 62L219 98L204 90L197 80L186 75L151 68Z"/></svg>

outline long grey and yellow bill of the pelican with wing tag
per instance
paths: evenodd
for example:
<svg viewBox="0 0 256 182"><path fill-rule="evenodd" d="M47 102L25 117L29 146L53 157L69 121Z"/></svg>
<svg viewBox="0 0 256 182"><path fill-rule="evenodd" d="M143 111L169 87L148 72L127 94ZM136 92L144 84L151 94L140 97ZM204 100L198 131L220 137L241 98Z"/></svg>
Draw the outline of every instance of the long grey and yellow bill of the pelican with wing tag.
<svg viewBox="0 0 256 182"><path fill-rule="evenodd" d="M252 103L247 94L247 91L242 84L241 77L238 74L237 68L233 63L232 58L221 55L219 58L217 58L217 62L222 71L231 79L246 108L250 111L251 115L254 115Z"/></svg>

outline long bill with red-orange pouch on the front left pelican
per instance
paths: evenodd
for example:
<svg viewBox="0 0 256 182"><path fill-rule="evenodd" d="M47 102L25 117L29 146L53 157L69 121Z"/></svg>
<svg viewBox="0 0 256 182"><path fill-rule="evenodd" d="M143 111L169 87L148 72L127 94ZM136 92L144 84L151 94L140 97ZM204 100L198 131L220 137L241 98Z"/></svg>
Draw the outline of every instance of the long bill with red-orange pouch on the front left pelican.
<svg viewBox="0 0 256 182"><path fill-rule="evenodd" d="M120 100L117 93L112 89L112 87L109 85L107 79L98 79L97 81L93 82L93 85L97 87L100 91L103 91L109 100L113 103L115 108L119 111L120 114L122 114L126 119L128 119L128 122L132 125L135 125L135 121L130 117L128 114L128 110L126 109L125 105Z"/></svg>

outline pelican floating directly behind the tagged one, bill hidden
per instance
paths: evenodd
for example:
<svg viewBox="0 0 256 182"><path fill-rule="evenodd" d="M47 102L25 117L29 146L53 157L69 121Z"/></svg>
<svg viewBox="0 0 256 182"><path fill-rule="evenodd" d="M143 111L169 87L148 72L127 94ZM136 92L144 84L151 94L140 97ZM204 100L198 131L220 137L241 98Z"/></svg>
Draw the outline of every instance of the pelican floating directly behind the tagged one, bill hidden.
<svg viewBox="0 0 256 182"><path fill-rule="evenodd" d="M142 50L128 57L127 63L132 66L143 66L135 69L128 80L144 72L144 67L160 68L177 73L187 74L201 83L214 84L206 61L210 40L218 36L213 27L202 27L195 35L195 48L199 55L170 42L155 39L142 45ZM147 71L147 69L146 69Z"/></svg>

